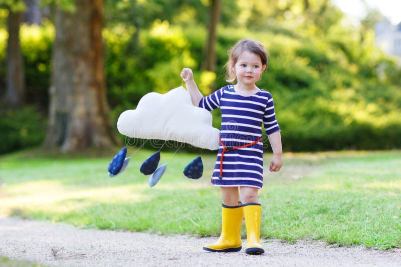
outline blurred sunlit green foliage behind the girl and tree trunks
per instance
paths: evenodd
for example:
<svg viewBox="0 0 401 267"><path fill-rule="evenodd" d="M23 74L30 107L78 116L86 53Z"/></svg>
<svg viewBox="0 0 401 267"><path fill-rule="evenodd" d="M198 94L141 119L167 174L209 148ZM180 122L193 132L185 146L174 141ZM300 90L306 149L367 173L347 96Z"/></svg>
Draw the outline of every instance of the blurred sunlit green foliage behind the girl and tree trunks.
<svg viewBox="0 0 401 267"><path fill-rule="evenodd" d="M259 39L270 52L258 86L274 97L284 150L401 147L401 68L374 45L377 13L355 26L329 0L222 2L218 69L212 73L200 68L209 0L105 1L105 72L113 123L145 93L181 85L184 66L193 69L205 95L213 82L216 88L226 85L227 50L247 37ZM41 110L48 106L54 34L49 21L21 29L29 99ZM0 84L7 36L0 29ZM220 127L220 110L212 114Z"/></svg>

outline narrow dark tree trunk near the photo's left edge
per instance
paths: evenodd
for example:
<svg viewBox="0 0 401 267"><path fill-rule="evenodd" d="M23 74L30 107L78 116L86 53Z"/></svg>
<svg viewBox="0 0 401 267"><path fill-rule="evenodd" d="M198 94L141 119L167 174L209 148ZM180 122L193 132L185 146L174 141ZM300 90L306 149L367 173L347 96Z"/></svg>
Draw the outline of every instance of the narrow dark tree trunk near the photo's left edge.
<svg viewBox="0 0 401 267"><path fill-rule="evenodd" d="M9 39L7 41L7 99L11 106L25 102L24 62L20 45L22 12L9 13Z"/></svg>

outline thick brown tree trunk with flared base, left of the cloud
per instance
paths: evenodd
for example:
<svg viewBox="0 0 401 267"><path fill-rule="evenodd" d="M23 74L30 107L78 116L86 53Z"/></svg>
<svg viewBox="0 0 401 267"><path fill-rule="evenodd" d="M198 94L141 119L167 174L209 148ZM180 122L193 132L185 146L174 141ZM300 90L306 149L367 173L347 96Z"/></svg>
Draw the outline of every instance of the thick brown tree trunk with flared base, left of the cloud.
<svg viewBox="0 0 401 267"><path fill-rule="evenodd" d="M56 39L45 146L75 151L116 143L108 118L103 73L103 0L77 0L77 11L56 7Z"/></svg>

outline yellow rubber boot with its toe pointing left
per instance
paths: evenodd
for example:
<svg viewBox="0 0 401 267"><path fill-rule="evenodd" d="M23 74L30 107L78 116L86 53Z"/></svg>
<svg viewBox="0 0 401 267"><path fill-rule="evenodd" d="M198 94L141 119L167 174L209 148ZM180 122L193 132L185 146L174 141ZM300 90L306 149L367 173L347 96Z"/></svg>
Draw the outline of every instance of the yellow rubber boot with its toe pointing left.
<svg viewBox="0 0 401 267"><path fill-rule="evenodd" d="M244 216L243 208L238 206L222 207L222 234L214 244L206 244L203 248L212 252L235 252L242 248L241 226Z"/></svg>

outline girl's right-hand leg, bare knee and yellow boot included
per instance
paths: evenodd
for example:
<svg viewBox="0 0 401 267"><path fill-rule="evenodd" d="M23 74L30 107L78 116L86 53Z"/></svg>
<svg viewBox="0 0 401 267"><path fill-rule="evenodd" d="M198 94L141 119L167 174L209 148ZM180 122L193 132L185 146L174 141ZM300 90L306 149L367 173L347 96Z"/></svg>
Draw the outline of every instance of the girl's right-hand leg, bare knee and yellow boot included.
<svg viewBox="0 0 401 267"><path fill-rule="evenodd" d="M245 252L248 254L261 254L265 250L260 243L260 221L262 205L258 203L259 188L241 186L240 196L244 208L245 226L247 227L247 246Z"/></svg>

